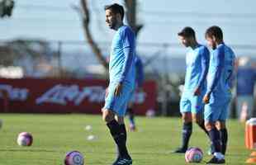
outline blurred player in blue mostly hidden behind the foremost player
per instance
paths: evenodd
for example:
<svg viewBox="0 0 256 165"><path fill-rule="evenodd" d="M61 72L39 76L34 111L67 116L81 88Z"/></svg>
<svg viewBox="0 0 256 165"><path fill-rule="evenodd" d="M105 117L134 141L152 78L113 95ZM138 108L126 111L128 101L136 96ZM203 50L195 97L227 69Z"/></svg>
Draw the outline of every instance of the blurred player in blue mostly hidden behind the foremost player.
<svg viewBox="0 0 256 165"><path fill-rule="evenodd" d="M134 113L134 102L135 102L135 92L143 92L143 85L144 82L144 71L143 71L143 63L142 60L138 55L135 56L135 91L130 98L130 102L127 108L127 114L130 121L130 131L136 130L135 125L135 113Z"/></svg>

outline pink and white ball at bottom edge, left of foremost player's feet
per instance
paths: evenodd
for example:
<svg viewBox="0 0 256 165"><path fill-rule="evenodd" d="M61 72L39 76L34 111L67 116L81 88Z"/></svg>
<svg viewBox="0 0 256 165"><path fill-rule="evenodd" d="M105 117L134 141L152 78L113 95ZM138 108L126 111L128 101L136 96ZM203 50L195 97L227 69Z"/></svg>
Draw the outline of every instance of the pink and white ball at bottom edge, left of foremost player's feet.
<svg viewBox="0 0 256 165"><path fill-rule="evenodd" d="M66 153L64 164L65 165L83 165L83 155L78 151L71 151Z"/></svg>

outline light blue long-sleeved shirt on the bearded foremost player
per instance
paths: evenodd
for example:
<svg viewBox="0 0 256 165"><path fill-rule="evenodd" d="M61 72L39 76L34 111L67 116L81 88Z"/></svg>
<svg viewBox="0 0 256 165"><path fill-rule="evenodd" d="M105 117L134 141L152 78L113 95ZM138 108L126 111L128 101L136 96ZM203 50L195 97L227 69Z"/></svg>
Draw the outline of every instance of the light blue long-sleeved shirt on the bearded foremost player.
<svg viewBox="0 0 256 165"><path fill-rule="evenodd" d="M135 83L135 33L121 26L113 37L109 63L110 82Z"/></svg>

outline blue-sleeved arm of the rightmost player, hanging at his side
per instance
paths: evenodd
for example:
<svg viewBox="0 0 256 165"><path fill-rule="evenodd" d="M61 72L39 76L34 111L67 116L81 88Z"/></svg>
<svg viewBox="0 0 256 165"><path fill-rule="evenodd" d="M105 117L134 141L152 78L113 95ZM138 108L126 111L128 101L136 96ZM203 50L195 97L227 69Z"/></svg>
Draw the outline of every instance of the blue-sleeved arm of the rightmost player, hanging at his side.
<svg viewBox="0 0 256 165"><path fill-rule="evenodd" d="M211 92L215 89L216 85L218 84L218 82L220 81L220 75L221 75L221 71L224 67L224 49L220 48L217 49L215 51L215 53L213 54L216 56L216 60L215 60L215 70L212 74L212 81L209 82L209 86L207 87L207 91L206 91L206 95L203 99L203 101L205 103L208 103L210 100L210 96L211 96Z"/></svg>

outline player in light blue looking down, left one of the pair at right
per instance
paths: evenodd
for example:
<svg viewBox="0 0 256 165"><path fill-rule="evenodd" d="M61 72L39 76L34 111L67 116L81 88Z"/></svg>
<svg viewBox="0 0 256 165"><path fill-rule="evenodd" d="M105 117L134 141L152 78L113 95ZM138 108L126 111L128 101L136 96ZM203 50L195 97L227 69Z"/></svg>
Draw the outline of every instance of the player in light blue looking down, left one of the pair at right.
<svg viewBox="0 0 256 165"><path fill-rule="evenodd" d="M183 144L174 153L185 153L192 134L192 121L207 134L201 115L210 53L206 46L197 43L195 31L191 27L185 27L178 33L178 37L185 47L189 47L189 50L186 54L186 77L180 101L180 112L183 115Z"/></svg>

